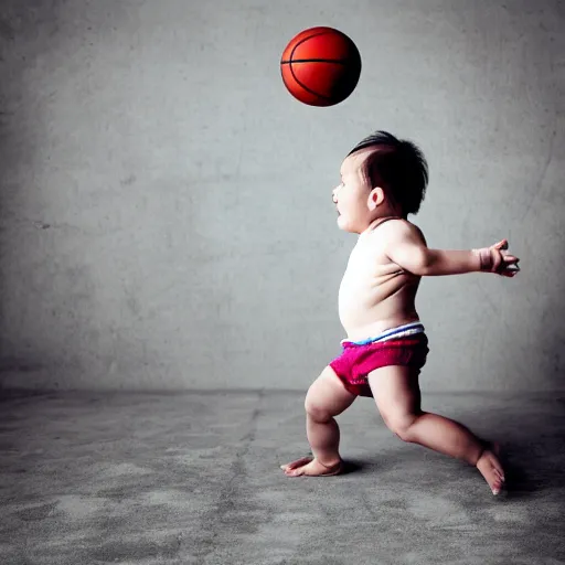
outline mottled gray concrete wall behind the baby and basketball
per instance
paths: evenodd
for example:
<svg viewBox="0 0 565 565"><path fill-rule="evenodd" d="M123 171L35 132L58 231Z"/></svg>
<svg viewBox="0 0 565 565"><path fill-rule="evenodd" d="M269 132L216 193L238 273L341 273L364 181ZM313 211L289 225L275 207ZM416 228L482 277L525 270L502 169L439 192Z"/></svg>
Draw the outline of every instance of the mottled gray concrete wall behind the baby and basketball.
<svg viewBox="0 0 565 565"><path fill-rule="evenodd" d="M423 281L423 390L564 388L563 2L0 6L0 386L306 391L355 242L330 191L383 128L429 160L430 246L522 258ZM278 68L320 24L364 64L323 109Z"/></svg>

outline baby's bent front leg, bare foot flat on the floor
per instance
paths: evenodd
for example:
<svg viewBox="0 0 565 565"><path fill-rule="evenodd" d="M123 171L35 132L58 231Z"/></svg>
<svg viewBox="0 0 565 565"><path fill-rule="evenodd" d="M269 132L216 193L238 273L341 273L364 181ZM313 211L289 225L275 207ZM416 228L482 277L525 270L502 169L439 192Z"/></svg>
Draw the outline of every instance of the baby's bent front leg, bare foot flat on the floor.
<svg viewBox="0 0 565 565"><path fill-rule="evenodd" d="M340 428L333 416L351 406L356 398L327 366L306 395L306 431L313 458L305 457L281 465L289 477L335 475L341 468Z"/></svg>

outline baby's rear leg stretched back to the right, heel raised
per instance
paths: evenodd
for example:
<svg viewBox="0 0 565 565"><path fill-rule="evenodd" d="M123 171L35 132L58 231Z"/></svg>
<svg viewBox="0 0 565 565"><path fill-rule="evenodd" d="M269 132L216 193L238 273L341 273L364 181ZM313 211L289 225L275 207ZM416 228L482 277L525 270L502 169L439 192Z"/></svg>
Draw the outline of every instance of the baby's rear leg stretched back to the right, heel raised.
<svg viewBox="0 0 565 565"><path fill-rule="evenodd" d="M493 494L504 482L497 444L488 444L458 422L420 408L419 371L385 366L369 375L369 383L385 424L404 441L419 444L476 466Z"/></svg>

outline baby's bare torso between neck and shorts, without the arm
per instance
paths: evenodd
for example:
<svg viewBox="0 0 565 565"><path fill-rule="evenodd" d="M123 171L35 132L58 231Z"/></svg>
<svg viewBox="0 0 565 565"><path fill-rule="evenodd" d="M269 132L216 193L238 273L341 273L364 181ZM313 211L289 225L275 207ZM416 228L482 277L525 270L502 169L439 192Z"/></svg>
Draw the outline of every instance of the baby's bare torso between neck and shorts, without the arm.
<svg viewBox="0 0 565 565"><path fill-rule="evenodd" d="M353 341L418 320L415 297L420 277L403 270L384 252L401 222L362 234L351 252L339 291L341 323ZM422 232L411 224L424 241ZM385 239L386 238L386 239Z"/></svg>

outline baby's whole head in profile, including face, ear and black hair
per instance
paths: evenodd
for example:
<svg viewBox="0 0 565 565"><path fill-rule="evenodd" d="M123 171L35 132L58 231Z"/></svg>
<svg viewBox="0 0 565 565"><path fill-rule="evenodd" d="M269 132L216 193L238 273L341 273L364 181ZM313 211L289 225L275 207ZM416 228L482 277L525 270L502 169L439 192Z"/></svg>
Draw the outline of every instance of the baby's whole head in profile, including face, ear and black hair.
<svg viewBox="0 0 565 565"><path fill-rule="evenodd" d="M362 233L379 217L416 214L427 183L428 166L420 149L376 131L359 142L341 166L341 184L332 193L338 225Z"/></svg>

